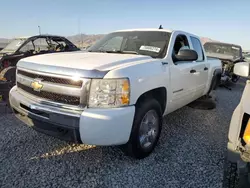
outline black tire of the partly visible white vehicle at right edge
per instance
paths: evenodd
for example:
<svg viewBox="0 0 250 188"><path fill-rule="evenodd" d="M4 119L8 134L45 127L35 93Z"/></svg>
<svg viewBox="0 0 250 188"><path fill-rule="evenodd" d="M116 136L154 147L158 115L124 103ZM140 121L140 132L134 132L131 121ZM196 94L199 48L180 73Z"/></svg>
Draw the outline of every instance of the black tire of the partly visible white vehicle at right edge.
<svg viewBox="0 0 250 188"><path fill-rule="evenodd" d="M249 188L248 174L238 169L237 163L227 159L224 163L223 188Z"/></svg>

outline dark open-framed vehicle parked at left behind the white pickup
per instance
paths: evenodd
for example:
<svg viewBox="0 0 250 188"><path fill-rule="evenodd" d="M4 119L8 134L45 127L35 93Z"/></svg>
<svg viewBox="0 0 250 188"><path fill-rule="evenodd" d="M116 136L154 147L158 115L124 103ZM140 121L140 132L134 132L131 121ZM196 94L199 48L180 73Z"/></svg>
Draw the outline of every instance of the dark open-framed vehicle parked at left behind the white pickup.
<svg viewBox="0 0 250 188"><path fill-rule="evenodd" d="M12 40L0 51L0 97L7 99L10 88L16 80L16 64L25 57L46 53L78 51L65 37L38 35Z"/></svg>

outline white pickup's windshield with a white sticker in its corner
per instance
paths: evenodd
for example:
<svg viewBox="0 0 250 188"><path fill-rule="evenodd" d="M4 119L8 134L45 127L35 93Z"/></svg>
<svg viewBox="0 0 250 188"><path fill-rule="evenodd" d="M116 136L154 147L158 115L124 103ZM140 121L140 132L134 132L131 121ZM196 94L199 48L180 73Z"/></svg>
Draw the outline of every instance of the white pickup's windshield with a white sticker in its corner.
<svg viewBox="0 0 250 188"><path fill-rule="evenodd" d="M161 31L127 31L106 35L88 49L89 52L131 53L163 58L171 33Z"/></svg>

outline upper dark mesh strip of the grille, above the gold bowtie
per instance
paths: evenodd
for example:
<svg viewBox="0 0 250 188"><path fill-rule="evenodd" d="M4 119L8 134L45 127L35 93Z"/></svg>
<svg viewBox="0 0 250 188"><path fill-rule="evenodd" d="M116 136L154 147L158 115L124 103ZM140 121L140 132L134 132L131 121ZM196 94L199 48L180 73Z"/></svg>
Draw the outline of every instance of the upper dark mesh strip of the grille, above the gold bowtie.
<svg viewBox="0 0 250 188"><path fill-rule="evenodd" d="M81 87L82 86L82 80L73 81L73 80L67 79L67 78L58 78L58 77L45 76L45 75L41 75L41 74L26 72L26 71L23 71L23 70L17 70L17 74L27 76L29 78L34 78L34 79L35 78L40 78L40 79L42 79L43 81L46 81L46 82L52 82L52 83L70 85L70 86L76 86L76 87Z"/></svg>

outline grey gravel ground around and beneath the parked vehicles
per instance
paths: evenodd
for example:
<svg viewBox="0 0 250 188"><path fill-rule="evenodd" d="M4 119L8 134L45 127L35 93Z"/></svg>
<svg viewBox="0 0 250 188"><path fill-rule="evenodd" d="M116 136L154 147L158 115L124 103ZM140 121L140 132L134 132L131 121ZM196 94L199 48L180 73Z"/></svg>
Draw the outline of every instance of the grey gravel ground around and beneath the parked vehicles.
<svg viewBox="0 0 250 188"><path fill-rule="evenodd" d="M117 147L73 145L0 115L0 187L221 187L232 112L244 83L216 91L217 108L166 116L155 152L143 160Z"/></svg>

